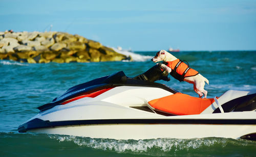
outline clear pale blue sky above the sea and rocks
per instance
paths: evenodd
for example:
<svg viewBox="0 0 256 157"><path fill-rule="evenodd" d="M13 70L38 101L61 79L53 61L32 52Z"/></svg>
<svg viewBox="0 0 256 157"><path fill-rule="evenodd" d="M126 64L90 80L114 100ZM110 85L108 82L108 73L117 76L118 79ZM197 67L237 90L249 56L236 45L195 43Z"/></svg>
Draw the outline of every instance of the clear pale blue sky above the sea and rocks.
<svg viewBox="0 0 256 157"><path fill-rule="evenodd" d="M0 0L0 31L79 34L132 50L255 50L256 0Z"/></svg>

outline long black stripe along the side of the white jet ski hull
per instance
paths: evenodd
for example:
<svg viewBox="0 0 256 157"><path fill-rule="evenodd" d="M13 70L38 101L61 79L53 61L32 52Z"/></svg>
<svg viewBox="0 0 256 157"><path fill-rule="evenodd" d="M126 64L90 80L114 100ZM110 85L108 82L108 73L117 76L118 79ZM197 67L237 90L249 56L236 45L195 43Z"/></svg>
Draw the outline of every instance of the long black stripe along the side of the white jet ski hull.
<svg viewBox="0 0 256 157"><path fill-rule="evenodd" d="M33 119L18 127L19 133L36 128L46 128L67 125L98 125L98 124L225 124L225 125L256 125L256 119L99 119L44 121Z"/></svg>

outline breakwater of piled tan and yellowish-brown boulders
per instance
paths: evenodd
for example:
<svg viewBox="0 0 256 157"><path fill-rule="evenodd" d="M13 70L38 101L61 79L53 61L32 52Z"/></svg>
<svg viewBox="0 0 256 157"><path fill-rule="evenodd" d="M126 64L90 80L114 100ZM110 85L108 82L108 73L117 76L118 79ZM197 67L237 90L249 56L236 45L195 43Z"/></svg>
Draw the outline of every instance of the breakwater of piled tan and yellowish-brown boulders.
<svg viewBox="0 0 256 157"><path fill-rule="evenodd" d="M28 63L131 60L110 47L65 32L0 32L0 59Z"/></svg>

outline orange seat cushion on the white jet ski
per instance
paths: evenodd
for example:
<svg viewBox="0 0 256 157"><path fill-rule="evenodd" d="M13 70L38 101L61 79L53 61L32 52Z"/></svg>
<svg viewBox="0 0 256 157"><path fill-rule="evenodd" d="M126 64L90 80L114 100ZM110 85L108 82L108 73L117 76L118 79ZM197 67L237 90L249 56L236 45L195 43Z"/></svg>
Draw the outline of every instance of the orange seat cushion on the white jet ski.
<svg viewBox="0 0 256 157"><path fill-rule="evenodd" d="M196 115L202 113L214 98L198 98L183 93L175 93L148 102L153 108L174 115Z"/></svg>

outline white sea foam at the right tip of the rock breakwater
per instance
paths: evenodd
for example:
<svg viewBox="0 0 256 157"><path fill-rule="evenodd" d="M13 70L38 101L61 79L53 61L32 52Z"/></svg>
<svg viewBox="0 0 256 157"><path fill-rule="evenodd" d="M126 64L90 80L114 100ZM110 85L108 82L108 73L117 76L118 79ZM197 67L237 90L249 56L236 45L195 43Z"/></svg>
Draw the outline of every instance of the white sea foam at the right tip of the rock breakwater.
<svg viewBox="0 0 256 157"><path fill-rule="evenodd" d="M144 61L148 61L151 60L154 56L144 56L144 55L140 55L140 54L135 54L129 50L119 50L117 48L112 47L117 53L119 54L123 54L127 57L131 56L133 61L135 62L144 62Z"/></svg>

